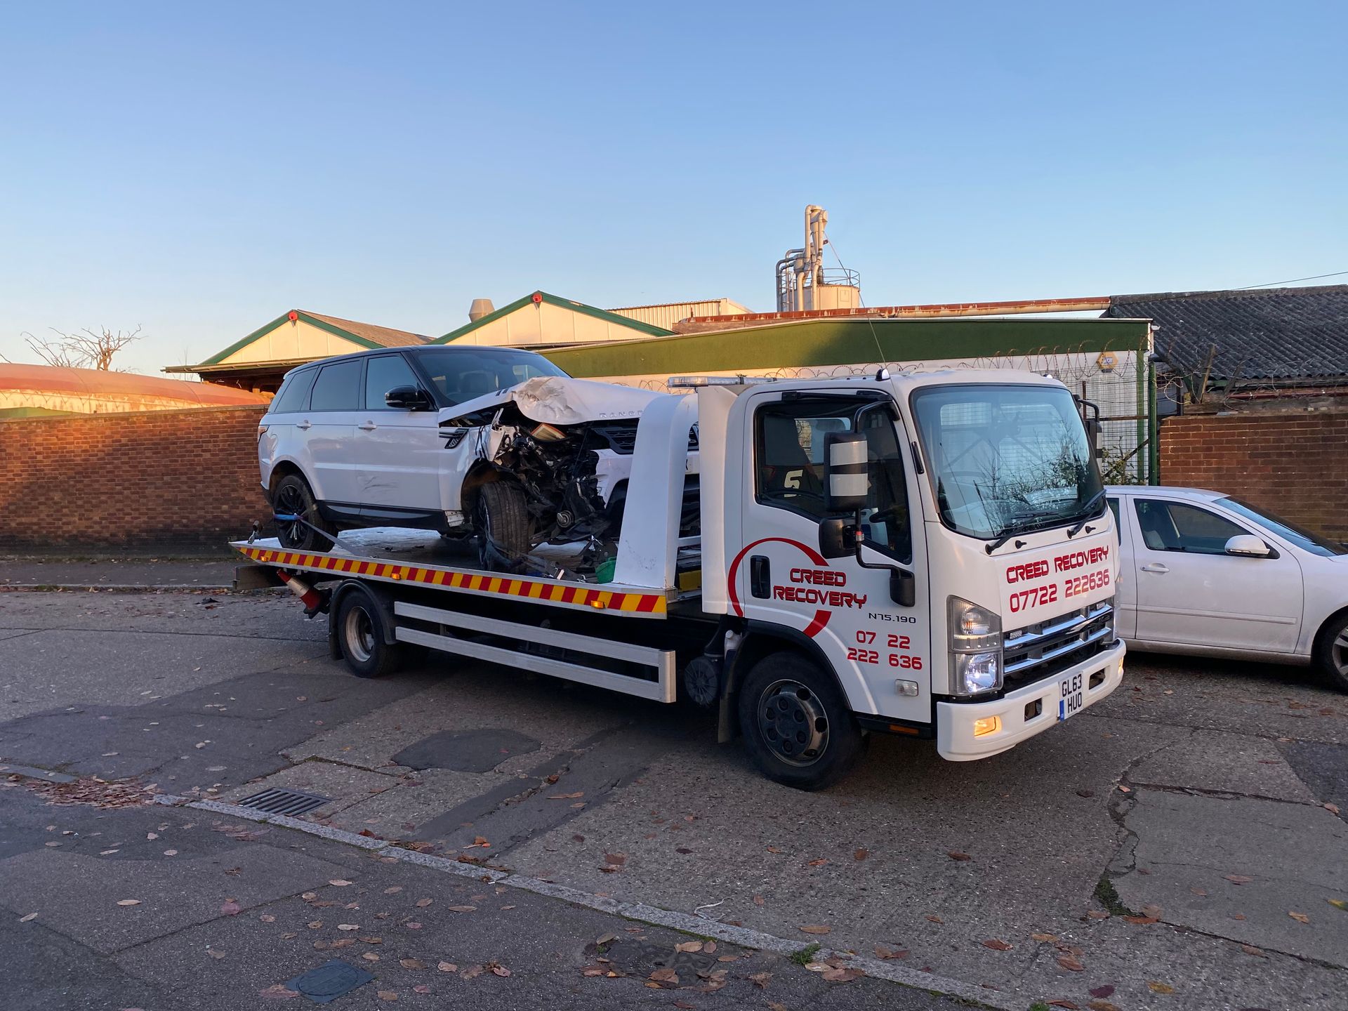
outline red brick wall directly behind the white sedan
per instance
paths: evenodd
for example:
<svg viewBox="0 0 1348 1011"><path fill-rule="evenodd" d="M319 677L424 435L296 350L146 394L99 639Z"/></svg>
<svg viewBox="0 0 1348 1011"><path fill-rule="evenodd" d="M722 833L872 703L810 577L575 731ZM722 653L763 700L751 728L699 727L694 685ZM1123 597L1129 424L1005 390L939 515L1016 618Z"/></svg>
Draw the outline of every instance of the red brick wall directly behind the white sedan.
<svg viewBox="0 0 1348 1011"><path fill-rule="evenodd" d="M1348 407L1169 418L1161 483L1227 492L1348 541Z"/></svg>

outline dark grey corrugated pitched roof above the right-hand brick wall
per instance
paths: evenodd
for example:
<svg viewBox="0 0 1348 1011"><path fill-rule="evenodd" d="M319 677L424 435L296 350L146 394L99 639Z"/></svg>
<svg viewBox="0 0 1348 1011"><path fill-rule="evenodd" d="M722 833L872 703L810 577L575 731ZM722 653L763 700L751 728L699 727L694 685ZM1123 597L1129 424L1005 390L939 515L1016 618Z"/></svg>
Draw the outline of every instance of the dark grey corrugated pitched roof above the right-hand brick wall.
<svg viewBox="0 0 1348 1011"><path fill-rule="evenodd" d="M1173 368L1217 379L1348 377L1348 284L1115 295L1103 315L1151 319Z"/></svg>

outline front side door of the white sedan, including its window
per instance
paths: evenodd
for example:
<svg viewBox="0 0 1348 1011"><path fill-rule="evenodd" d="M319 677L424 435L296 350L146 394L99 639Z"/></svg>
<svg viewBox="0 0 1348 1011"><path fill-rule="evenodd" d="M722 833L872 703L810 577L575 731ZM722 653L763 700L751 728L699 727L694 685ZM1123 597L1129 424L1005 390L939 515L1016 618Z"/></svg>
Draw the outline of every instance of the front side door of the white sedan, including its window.
<svg viewBox="0 0 1348 1011"><path fill-rule="evenodd" d="M1132 504L1138 639L1295 650L1302 585L1290 553L1268 545L1263 558L1228 555L1228 539L1259 534L1205 503L1138 495Z"/></svg>

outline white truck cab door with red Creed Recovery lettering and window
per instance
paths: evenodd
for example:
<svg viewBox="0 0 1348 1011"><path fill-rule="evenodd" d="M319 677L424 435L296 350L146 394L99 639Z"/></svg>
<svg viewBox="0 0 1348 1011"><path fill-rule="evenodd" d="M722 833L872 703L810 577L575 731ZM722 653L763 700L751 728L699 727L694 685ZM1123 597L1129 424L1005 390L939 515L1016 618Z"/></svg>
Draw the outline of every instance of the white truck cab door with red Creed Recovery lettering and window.
<svg viewBox="0 0 1348 1011"><path fill-rule="evenodd" d="M878 394L745 394L752 398L743 434L748 480L740 543L728 553L731 604L749 621L813 643L853 712L926 724L930 615L917 479L899 412ZM825 441L842 431L861 433L867 446L860 562L820 551L820 522L833 515ZM915 574L913 607L891 599L892 566Z"/></svg>

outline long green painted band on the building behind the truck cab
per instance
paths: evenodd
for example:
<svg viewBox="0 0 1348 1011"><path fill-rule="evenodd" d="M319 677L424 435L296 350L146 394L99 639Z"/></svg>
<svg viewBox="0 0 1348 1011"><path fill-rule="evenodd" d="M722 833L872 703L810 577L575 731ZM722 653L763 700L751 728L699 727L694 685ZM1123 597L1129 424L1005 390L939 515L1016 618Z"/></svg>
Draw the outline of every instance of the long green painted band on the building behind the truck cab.
<svg viewBox="0 0 1348 1011"><path fill-rule="evenodd" d="M1136 350L1146 319L810 319L543 352L577 377Z"/></svg>

